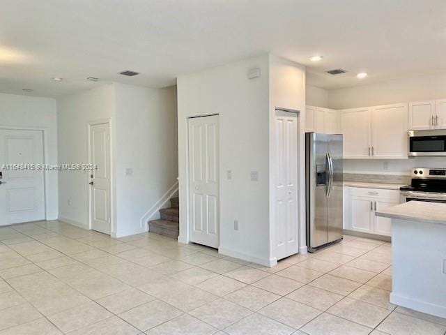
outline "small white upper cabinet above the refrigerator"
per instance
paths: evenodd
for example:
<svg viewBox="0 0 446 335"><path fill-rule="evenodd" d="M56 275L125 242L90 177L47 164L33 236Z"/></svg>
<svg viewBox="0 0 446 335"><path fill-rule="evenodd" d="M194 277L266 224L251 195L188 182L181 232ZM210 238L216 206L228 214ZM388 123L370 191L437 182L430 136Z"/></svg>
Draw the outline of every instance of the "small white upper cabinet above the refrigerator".
<svg viewBox="0 0 446 335"><path fill-rule="evenodd" d="M306 106L305 131L322 134L339 133L339 111L330 108Z"/></svg>

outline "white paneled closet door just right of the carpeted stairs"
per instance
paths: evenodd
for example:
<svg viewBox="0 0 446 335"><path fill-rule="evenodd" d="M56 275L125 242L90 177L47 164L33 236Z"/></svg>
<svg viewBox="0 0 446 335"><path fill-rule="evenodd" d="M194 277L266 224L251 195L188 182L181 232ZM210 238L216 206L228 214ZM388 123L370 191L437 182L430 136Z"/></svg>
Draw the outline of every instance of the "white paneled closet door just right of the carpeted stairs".
<svg viewBox="0 0 446 335"><path fill-rule="evenodd" d="M189 119L189 225L192 242L218 248L218 116Z"/></svg>

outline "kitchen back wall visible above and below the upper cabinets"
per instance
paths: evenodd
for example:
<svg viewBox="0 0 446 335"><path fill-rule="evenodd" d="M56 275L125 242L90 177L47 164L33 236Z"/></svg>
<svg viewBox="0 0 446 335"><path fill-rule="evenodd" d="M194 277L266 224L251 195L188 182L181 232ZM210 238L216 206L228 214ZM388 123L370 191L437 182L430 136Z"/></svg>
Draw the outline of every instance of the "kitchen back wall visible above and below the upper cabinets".
<svg viewBox="0 0 446 335"><path fill-rule="evenodd" d="M385 105L446 98L446 73L390 80L328 91L334 109ZM345 172L409 174L411 168L445 168L445 158L417 157L405 160L345 160Z"/></svg>

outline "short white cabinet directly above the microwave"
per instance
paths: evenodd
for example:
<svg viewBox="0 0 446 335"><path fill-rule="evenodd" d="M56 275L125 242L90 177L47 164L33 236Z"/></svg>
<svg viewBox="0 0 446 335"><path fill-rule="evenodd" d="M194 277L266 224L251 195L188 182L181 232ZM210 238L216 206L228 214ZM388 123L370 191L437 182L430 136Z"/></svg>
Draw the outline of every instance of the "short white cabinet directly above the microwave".
<svg viewBox="0 0 446 335"><path fill-rule="evenodd" d="M446 129L446 99L409 103L409 130Z"/></svg>

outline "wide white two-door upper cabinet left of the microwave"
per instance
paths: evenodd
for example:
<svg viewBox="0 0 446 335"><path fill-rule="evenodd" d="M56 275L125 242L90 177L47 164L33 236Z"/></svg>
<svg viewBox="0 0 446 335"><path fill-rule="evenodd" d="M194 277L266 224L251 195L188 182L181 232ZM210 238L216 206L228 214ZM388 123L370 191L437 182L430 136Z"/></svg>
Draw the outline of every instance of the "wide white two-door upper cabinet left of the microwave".
<svg viewBox="0 0 446 335"><path fill-rule="evenodd" d="M341 111L344 158L407 158L407 103Z"/></svg>

